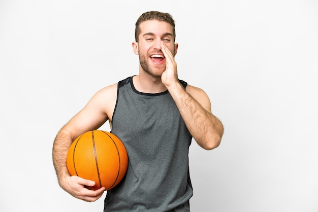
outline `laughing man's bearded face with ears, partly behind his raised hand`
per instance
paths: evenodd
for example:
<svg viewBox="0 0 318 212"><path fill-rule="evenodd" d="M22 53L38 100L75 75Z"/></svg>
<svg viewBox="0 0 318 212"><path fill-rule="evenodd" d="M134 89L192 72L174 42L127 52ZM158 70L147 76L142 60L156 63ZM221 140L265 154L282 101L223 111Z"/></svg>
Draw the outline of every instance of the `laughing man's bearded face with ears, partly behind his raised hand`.
<svg viewBox="0 0 318 212"><path fill-rule="evenodd" d="M133 42L135 54L139 55L140 70L154 77L160 77L166 69L166 59L161 51L164 42L173 56L178 44L174 44L172 26L164 21L150 20L140 24L139 41Z"/></svg>

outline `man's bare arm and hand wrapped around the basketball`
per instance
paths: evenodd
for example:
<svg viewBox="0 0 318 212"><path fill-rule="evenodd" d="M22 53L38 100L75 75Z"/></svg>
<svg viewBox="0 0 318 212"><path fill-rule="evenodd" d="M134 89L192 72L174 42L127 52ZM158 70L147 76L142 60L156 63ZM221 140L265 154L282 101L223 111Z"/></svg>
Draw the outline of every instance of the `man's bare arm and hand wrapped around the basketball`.
<svg viewBox="0 0 318 212"><path fill-rule="evenodd" d="M85 186L93 186L93 181L70 176L66 156L76 137L89 130L98 129L112 115L116 91L115 84L97 92L85 107L59 130L54 139L52 157L59 185L72 196L84 201L96 201L103 195L105 188L88 190Z"/></svg>

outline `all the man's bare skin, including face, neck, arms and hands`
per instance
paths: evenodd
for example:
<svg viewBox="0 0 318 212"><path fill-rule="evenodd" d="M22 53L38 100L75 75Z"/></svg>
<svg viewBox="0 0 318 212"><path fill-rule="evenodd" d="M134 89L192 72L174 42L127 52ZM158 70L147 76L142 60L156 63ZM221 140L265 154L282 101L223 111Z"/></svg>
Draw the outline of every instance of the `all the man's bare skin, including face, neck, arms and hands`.
<svg viewBox="0 0 318 212"><path fill-rule="evenodd" d="M142 22L140 27L139 42L132 43L134 53L140 58L139 75L133 78L136 89L144 93L168 90L199 146L206 150L218 147L224 128L211 113L209 97L202 89L191 85L184 89L178 81L177 63L174 59L178 44L174 43L172 26L163 21L150 20ZM164 58L154 61L150 57L153 54L162 55ZM80 134L98 129L107 120L111 126L116 97L117 83L98 91L85 107L59 130L54 139L52 156L59 185L78 199L96 201L103 195L105 188L96 191L86 189L85 186L93 186L95 183L78 176L70 176L66 166L68 149Z"/></svg>

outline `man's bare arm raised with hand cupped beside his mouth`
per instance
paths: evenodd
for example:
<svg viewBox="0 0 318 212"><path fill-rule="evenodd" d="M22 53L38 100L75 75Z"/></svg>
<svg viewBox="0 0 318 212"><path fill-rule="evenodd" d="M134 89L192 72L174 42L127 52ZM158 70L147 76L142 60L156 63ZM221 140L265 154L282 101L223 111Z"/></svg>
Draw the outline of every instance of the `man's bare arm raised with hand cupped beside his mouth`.
<svg viewBox="0 0 318 212"><path fill-rule="evenodd" d="M180 114L196 142L204 149L219 146L224 132L221 122L211 113L211 103L206 93L188 85L186 90L178 81L177 64L164 43L161 45L166 57L166 70L162 82L169 90Z"/></svg>

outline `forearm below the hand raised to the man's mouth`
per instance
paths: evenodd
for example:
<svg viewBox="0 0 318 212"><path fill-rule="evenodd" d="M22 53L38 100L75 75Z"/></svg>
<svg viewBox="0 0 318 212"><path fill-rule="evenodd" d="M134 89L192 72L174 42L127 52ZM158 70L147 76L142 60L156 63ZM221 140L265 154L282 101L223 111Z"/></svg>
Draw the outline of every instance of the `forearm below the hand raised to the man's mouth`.
<svg viewBox="0 0 318 212"><path fill-rule="evenodd" d="M168 90L196 142L206 150L218 147L224 131L221 122L188 94L180 84Z"/></svg>

